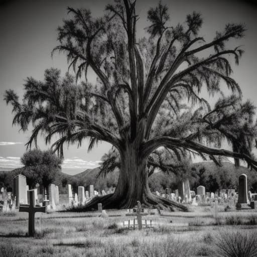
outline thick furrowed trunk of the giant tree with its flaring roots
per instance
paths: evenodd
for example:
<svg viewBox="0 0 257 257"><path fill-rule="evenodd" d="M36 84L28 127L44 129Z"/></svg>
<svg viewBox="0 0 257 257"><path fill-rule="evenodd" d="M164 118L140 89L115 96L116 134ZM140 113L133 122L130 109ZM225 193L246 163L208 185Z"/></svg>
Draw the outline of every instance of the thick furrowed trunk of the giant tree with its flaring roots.
<svg viewBox="0 0 257 257"><path fill-rule="evenodd" d="M97 203L102 203L103 209L133 208L137 201L145 207L171 209L176 207L187 211L187 207L177 202L159 197L151 193L148 185L147 158L142 158L137 146L127 144L120 152L121 167L115 192L105 196L94 197L89 203L74 211L97 209Z"/></svg>

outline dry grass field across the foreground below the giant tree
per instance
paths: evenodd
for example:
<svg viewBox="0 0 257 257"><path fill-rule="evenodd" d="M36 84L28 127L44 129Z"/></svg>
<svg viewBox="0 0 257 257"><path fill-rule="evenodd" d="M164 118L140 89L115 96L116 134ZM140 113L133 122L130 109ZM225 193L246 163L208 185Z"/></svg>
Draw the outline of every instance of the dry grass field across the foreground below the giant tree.
<svg viewBox="0 0 257 257"><path fill-rule="evenodd" d="M197 206L193 212L149 215L153 227L141 231L123 228L124 220L134 218L125 216L125 210L107 212L113 217L100 218L96 212L37 213L34 238L27 236L27 213L2 215L0 256L257 256L256 212L218 212L214 218L211 207ZM231 248L229 244L237 251L253 249L231 255L223 249Z"/></svg>

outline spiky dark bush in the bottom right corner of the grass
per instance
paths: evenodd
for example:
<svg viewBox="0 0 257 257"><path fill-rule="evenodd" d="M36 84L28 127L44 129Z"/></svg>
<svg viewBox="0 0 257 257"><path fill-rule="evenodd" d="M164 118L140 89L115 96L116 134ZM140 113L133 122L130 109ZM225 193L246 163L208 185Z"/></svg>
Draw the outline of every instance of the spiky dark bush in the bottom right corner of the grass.
<svg viewBox="0 0 257 257"><path fill-rule="evenodd" d="M257 256L257 232L220 231L215 244L222 257Z"/></svg>

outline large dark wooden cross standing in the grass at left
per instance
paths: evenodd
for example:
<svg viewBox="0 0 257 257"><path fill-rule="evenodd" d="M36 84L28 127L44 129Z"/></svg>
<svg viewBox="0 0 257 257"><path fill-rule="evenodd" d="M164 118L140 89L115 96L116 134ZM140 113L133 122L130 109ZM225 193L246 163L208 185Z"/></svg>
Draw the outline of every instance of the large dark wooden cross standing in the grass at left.
<svg viewBox="0 0 257 257"><path fill-rule="evenodd" d="M35 213L46 212L46 206L35 207L35 191L28 190L30 192L30 204L20 204L19 211L29 212L29 235L35 235Z"/></svg>

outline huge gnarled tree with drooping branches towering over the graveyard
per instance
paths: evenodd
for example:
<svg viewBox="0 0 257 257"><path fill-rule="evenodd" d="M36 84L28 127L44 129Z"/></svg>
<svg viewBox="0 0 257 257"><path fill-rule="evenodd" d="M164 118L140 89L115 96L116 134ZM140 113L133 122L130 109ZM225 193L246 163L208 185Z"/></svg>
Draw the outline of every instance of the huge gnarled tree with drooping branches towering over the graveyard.
<svg viewBox="0 0 257 257"><path fill-rule="evenodd" d="M120 171L115 192L96 197L85 209L98 202L103 208L129 208L137 200L186 209L150 192L146 167L160 147L178 158L191 152L217 163L217 156L233 157L236 165L243 159L256 169L251 156L254 106L241 101L240 87L230 76L229 56L238 64L243 51L226 47L230 39L243 37L243 25L227 24L206 43L200 14L193 12L184 25L171 26L161 3L149 10L143 38L137 37L136 1L115 0L102 18L86 9L68 8L68 13L71 18L58 28L54 51L67 55L76 80L68 74L61 79L60 71L50 69L42 82L27 79L22 103L12 90L5 99L13 105L14 123L24 131L30 122L34 126L28 146L42 133L48 143L59 136L53 149L61 155L64 144L80 145L86 138L89 150L97 141L116 148ZM95 74L94 84L87 71ZM228 97L221 91L225 84L232 93ZM213 108L201 97L203 87L220 96ZM232 151L220 149L225 138Z"/></svg>

